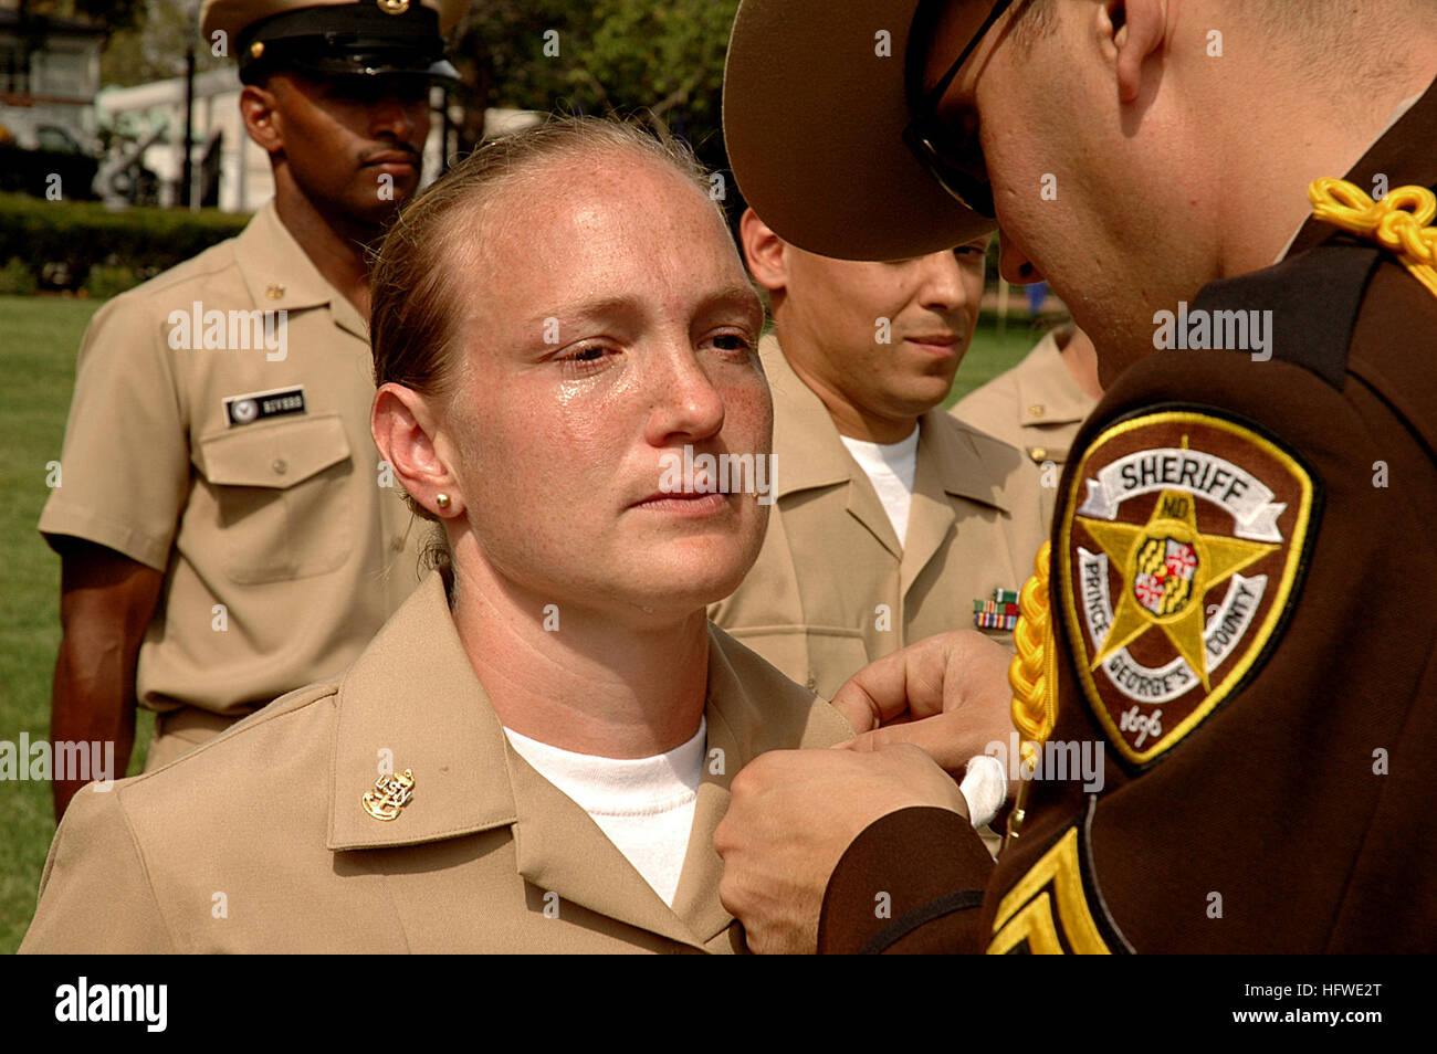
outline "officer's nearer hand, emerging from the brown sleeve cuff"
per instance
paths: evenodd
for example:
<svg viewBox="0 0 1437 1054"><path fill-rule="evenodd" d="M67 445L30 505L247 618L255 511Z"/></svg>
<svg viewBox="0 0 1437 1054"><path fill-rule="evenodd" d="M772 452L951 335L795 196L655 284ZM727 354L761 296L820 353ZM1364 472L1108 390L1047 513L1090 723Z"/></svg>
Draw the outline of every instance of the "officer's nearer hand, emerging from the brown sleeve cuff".
<svg viewBox="0 0 1437 1054"><path fill-rule="evenodd" d="M967 819L957 784L915 747L772 751L749 762L714 831L718 899L754 952L813 952L823 889L868 824L910 806Z"/></svg>

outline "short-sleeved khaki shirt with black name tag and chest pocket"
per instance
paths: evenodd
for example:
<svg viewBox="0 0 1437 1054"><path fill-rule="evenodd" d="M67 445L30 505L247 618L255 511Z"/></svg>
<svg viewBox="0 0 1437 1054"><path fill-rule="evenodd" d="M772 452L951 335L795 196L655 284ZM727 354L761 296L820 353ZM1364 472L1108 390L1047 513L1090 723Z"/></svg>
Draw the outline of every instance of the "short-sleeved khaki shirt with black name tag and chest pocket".
<svg viewBox="0 0 1437 1054"><path fill-rule="evenodd" d="M287 313L269 345L251 310ZM422 531L384 485L372 399L365 322L273 202L99 310L40 531L164 572L142 705L241 717L342 671L414 589Z"/></svg>

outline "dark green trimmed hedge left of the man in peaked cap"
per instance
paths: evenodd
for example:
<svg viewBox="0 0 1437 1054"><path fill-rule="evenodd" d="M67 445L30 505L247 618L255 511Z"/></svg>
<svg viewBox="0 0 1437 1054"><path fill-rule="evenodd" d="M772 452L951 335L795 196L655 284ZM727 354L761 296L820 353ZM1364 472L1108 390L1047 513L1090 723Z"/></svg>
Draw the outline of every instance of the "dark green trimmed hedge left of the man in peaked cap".
<svg viewBox="0 0 1437 1054"><path fill-rule="evenodd" d="M249 221L214 208L111 211L99 202L0 194L0 260L24 261L45 289L79 289L93 267L124 267L144 280L234 237Z"/></svg>

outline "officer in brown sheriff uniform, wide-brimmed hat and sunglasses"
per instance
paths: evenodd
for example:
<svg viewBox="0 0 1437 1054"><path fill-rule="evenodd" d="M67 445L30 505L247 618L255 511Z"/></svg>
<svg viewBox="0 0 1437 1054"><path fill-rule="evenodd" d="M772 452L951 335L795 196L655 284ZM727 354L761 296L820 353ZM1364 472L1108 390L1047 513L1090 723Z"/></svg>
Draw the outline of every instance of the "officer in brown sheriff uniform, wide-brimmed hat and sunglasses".
<svg viewBox="0 0 1437 1054"><path fill-rule="evenodd" d="M740 7L727 145L775 230L901 256L996 211L1106 389L1025 587L1040 778L996 869L911 747L769 755L717 834L754 948L1434 949L1437 23L1400 6Z"/></svg>

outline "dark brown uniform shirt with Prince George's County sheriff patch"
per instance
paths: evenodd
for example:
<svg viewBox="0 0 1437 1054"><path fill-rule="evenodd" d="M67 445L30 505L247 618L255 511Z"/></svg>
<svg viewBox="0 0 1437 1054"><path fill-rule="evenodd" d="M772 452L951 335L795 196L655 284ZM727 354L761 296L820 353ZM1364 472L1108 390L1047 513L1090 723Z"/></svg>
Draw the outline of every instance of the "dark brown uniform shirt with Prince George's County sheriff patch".
<svg viewBox="0 0 1437 1054"><path fill-rule="evenodd" d="M1437 85L1345 178L1437 185L1434 139ZM1270 312L1272 358L1135 363L1059 491L1050 742L1102 785L1035 781L996 870L956 813L884 817L821 948L1437 951L1437 297L1309 220L1191 310Z"/></svg>

